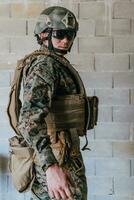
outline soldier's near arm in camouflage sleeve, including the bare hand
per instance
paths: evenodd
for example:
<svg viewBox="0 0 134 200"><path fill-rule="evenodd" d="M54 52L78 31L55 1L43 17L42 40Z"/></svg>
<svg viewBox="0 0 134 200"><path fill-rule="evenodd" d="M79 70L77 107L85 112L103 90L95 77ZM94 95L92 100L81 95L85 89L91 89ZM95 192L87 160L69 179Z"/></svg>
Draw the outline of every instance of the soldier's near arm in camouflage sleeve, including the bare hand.
<svg viewBox="0 0 134 200"><path fill-rule="evenodd" d="M46 171L50 196L71 200L69 176L59 167L54 157L44 120L51 107L56 77L51 66L48 68L45 65L47 64L36 65L27 76L18 128L38 154L41 166Z"/></svg>

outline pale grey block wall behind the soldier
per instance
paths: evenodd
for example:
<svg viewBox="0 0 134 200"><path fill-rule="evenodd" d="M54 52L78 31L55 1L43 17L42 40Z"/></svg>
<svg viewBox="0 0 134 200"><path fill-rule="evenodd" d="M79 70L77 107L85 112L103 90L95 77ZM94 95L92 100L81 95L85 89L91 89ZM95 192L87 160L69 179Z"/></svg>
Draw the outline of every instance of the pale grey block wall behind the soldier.
<svg viewBox="0 0 134 200"><path fill-rule="evenodd" d="M11 184L8 138L14 133L6 106L16 60L38 48L33 36L36 16L58 4L79 20L80 31L68 58L87 93L100 99L98 126L88 134L91 151L83 152L88 200L133 200L134 0L0 1L0 200L30 199Z"/></svg>

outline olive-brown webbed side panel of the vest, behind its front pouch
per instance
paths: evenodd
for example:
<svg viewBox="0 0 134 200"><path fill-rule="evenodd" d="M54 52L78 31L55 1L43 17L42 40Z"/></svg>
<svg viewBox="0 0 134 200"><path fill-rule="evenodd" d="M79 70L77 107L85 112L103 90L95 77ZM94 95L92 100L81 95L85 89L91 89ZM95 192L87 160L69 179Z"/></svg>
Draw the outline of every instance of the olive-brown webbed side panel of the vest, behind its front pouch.
<svg viewBox="0 0 134 200"><path fill-rule="evenodd" d="M85 98L81 94L58 96L46 117L48 129L80 128L84 131Z"/></svg>

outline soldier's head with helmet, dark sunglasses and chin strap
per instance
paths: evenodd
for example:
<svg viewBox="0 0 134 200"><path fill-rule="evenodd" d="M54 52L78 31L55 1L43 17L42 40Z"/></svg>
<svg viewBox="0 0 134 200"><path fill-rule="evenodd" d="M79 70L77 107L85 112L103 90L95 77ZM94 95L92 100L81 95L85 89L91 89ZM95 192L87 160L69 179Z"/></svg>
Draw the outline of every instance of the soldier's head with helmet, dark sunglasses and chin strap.
<svg viewBox="0 0 134 200"><path fill-rule="evenodd" d="M50 51L66 54L72 47L77 31L75 15L64 7L53 6L40 14L34 34L40 45L44 44Z"/></svg>

